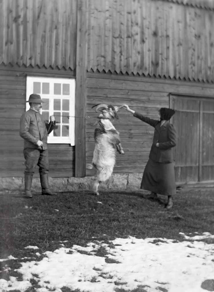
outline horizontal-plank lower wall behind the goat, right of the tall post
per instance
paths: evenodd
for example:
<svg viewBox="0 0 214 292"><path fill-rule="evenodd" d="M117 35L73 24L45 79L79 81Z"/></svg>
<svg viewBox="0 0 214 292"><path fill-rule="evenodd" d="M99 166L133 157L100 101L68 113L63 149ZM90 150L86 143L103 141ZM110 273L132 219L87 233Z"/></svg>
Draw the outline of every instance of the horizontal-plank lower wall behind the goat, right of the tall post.
<svg viewBox="0 0 214 292"><path fill-rule="evenodd" d="M157 119L160 107L169 107L169 93L214 96L214 85L197 82L158 80L153 78L125 77L111 74L88 74L87 79L87 125L86 163L90 163L94 150L94 129L97 114L91 107L98 103L122 105ZM117 154L114 173L142 173L148 161L154 128L121 109L114 125L120 132L125 155ZM191 141L187 141L192 147ZM188 145L188 144L187 144ZM87 170L86 175L93 175Z"/></svg>

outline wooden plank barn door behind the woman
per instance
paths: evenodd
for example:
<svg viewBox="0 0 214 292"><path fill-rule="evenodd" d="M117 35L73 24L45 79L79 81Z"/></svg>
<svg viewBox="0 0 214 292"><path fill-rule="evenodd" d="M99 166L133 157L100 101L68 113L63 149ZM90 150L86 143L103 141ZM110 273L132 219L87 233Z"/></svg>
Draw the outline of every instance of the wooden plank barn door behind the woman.
<svg viewBox="0 0 214 292"><path fill-rule="evenodd" d="M177 134L174 149L176 182L214 180L214 101L171 96Z"/></svg>

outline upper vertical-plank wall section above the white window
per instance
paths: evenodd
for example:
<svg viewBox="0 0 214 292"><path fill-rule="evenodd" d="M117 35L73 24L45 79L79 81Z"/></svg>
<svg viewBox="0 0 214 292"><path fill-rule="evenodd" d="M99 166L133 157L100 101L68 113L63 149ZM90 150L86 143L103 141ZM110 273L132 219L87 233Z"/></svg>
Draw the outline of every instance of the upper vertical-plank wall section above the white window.
<svg viewBox="0 0 214 292"><path fill-rule="evenodd" d="M0 64L76 67L77 0L1 0Z"/></svg>

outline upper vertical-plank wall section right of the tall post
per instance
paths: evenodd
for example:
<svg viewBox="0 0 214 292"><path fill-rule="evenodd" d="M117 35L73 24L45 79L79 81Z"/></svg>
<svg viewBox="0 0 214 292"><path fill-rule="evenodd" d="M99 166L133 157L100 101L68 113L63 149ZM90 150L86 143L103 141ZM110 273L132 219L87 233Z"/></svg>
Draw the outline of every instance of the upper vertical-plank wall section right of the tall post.
<svg viewBox="0 0 214 292"><path fill-rule="evenodd" d="M213 9L161 0L88 2L88 71L214 81Z"/></svg>

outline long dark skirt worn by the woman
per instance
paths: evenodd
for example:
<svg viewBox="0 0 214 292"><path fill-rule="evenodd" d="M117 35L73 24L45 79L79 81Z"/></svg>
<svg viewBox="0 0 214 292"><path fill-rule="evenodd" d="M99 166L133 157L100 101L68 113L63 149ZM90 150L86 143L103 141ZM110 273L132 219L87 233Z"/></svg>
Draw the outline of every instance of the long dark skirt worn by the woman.
<svg viewBox="0 0 214 292"><path fill-rule="evenodd" d="M160 163L148 160L141 181L141 189L157 194L176 194L174 162Z"/></svg>

